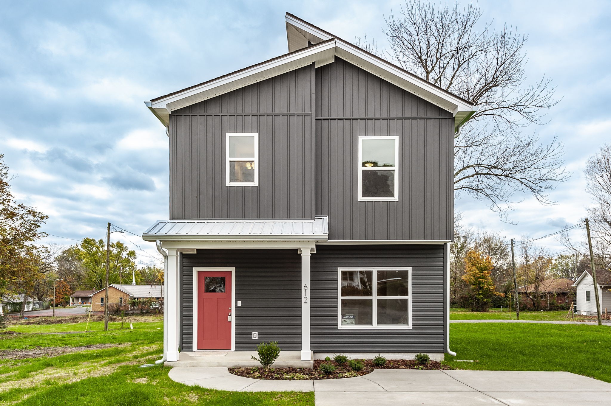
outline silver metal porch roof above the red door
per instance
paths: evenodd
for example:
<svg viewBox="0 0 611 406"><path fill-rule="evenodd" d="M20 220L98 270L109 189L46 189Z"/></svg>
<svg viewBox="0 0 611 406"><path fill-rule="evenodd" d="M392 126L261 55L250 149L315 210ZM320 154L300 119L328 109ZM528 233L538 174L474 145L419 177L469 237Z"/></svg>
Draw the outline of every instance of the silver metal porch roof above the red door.
<svg viewBox="0 0 611 406"><path fill-rule="evenodd" d="M142 238L155 240L322 240L329 235L329 218L313 220L170 220L157 221Z"/></svg>

